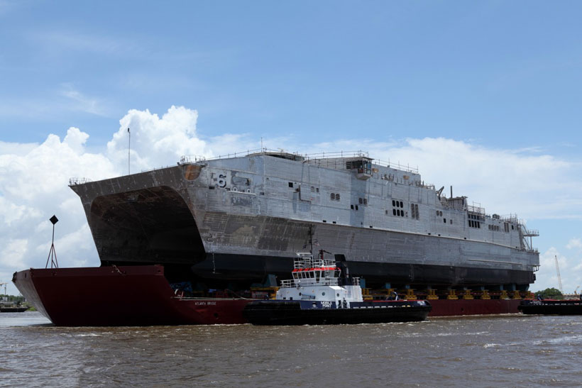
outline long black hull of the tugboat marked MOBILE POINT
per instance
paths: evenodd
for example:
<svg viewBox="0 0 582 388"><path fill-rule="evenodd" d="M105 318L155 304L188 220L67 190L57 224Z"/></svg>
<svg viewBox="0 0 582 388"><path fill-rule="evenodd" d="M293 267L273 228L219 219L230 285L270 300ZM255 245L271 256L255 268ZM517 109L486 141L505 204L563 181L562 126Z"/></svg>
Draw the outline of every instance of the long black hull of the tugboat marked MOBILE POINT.
<svg viewBox="0 0 582 388"><path fill-rule="evenodd" d="M346 323L388 323L424 321L431 311L427 301L352 302L337 309L320 301L253 301L243 310L253 325L334 325Z"/></svg>

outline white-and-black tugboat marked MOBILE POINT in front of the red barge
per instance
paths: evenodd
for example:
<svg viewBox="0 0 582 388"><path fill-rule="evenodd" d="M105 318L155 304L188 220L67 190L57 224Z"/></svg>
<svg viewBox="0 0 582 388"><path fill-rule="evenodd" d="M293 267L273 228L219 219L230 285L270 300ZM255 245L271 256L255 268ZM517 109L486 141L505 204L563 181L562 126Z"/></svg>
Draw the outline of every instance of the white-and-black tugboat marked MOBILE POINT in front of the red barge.
<svg viewBox="0 0 582 388"><path fill-rule="evenodd" d="M273 300L251 301L243 315L253 325L324 325L424 321L428 301L364 301L360 279L345 261L327 259L324 250L297 253L292 279L282 280Z"/></svg>

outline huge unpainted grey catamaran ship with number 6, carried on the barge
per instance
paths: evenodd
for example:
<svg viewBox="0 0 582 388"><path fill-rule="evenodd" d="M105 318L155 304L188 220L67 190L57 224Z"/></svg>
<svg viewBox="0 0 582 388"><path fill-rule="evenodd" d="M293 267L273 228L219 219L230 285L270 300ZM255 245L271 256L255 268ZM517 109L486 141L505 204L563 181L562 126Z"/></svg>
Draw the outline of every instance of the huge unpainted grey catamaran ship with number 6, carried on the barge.
<svg viewBox="0 0 582 388"><path fill-rule="evenodd" d="M539 267L538 233L517 216L486 214L367 153L182 157L70 187L101 265L161 264L170 282L275 285L310 241L366 287L524 291Z"/></svg>

